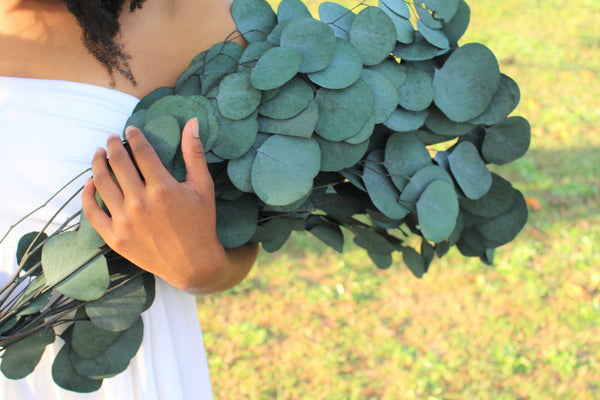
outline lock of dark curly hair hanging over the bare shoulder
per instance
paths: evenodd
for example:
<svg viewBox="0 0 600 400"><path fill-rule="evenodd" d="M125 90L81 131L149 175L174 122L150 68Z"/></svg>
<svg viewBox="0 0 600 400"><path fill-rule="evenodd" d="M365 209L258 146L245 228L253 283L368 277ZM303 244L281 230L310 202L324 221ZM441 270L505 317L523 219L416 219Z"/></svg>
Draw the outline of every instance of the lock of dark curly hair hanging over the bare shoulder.
<svg viewBox="0 0 600 400"><path fill-rule="evenodd" d="M62 0L83 29L83 43L92 55L106 67L113 79L114 71L136 84L129 67L131 58L117 42L119 15L125 0ZM129 11L141 8L145 0L131 0Z"/></svg>

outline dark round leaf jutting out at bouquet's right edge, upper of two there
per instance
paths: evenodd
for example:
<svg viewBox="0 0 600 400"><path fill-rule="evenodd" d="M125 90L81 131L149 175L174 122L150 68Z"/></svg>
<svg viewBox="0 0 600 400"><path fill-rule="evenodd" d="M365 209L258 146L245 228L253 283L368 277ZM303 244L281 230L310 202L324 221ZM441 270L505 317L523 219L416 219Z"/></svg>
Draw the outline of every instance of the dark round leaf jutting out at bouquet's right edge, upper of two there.
<svg viewBox="0 0 600 400"><path fill-rule="evenodd" d="M510 117L485 128L481 153L486 161L502 165L522 157L530 141L529 122L523 117Z"/></svg>

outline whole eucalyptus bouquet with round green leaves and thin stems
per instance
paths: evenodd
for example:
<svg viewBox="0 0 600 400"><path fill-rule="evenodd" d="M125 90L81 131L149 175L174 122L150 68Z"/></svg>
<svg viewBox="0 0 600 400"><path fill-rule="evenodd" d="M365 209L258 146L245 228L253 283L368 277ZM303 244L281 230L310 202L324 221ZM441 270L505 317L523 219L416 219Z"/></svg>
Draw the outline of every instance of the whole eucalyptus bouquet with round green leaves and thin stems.
<svg viewBox="0 0 600 400"><path fill-rule="evenodd" d="M401 252L421 277L452 246L491 263L519 233L524 197L488 164L523 156L530 127L509 116L519 88L494 54L458 45L470 18L463 0L323 3L320 20L300 0L277 13L235 0L231 13L248 46L202 52L127 122L183 179L181 129L198 118L225 247L274 252L308 231L341 252L350 235L377 267ZM60 386L92 391L122 371L141 341L152 276L112 255L84 218L24 237L17 256L0 301L2 372L30 373L63 323Z"/></svg>

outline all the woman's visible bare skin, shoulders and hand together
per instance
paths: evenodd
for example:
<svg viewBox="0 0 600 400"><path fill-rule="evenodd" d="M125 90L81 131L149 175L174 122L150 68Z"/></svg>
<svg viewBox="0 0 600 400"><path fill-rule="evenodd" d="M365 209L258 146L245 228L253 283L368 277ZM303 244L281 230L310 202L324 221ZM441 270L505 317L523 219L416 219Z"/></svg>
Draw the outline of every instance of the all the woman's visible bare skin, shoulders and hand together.
<svg viewBox="0 0 600 400"><path fill-rule="evenodd" d="M60 1L3 0L0 75L83 82L141 98L157 87L173 86L197 53L235 30L229 3L147 0L141 10L124 11L119 43L131 56L133 85L111 77L89 54L81 29ZM239 283L258 247L224 249L219 243L214 187L197 132L198 122L188 121L181 145L188 174L181 183L164 169L138 129L128 128L127 139L143 180L121 139L110 136L106 149L93 156L94 178L85 185L82 203L86 217L116 252L180 289L208 294ZM98 207L96 191L110 214Z"/></svg>

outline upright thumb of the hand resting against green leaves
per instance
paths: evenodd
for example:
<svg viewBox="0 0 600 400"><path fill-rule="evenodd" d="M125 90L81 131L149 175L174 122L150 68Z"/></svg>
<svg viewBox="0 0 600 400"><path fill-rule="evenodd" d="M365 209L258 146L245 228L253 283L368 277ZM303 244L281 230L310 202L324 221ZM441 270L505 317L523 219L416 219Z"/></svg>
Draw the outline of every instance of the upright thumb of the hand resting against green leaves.
<svg viewBox="0 0 600 400"><path fill-rule="evenodd" d="M191 183L197 188L206 183L212 187L212 177L208 171L204 147L200 141L198 131L197 118L190 119L183 128L181 152L183 153L183 160L185 161L185 168L187 170L185 182Z"/></svg>

